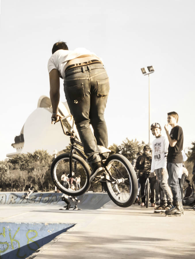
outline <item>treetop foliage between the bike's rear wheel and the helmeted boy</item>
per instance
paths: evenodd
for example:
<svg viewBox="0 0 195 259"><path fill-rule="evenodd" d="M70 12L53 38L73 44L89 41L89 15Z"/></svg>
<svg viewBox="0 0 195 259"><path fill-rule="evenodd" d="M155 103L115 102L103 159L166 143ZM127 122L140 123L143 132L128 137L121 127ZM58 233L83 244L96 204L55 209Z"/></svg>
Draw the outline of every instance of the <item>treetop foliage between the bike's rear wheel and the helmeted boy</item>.
<svg viewBox="0 0 195 259"><path fill-rule="evenodd" d="M135 140L129 140L126 138L121 145L112 144L109 149L111 149L112 153L119 153L127 157L129 161L132 161L136 158L137 152L140 152L143 150L145 146L144 141L141 143L139 141Z"/></svg>

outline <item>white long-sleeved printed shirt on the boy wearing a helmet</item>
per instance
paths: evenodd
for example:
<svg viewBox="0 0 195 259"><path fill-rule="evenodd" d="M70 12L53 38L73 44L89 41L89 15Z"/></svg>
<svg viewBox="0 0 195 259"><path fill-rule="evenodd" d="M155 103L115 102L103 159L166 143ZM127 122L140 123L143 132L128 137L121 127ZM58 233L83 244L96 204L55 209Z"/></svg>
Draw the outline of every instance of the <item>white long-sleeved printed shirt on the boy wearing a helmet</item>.
<svg viewBox="0 0 195 259"><path fill-rule="evenodd" d="M151 172L158 168L167 167L167 154L168 154L169 140L164 136L155 138L152 142L152 164Z"/></svg>

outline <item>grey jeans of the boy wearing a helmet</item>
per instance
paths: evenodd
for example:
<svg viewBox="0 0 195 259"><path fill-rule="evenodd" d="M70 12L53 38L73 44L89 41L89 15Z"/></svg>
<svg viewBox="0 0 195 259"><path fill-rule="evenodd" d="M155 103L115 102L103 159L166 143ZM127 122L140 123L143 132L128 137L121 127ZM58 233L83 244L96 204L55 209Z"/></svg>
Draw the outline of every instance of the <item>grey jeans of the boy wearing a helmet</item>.
<svg viewBox="0 0 195 259"><path fill-rule="evenodd" d="M160 203L168 203L171 204L173 202L173 196L171 193L171 189L168 185L168 172L166 169L165 174L162 174L162 167L155 169L154 172L156 173L156 176L158 178L158 181L160 182L160 191L161 191L161 199Z"/></svg>

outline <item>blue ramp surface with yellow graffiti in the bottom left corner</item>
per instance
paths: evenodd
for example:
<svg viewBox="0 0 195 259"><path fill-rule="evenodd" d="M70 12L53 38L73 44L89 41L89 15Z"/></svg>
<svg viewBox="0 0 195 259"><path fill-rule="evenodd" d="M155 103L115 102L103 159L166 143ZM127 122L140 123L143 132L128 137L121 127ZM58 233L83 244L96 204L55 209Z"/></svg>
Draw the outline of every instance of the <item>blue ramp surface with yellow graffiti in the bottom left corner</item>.
<svg viewBox="0 0 195 259"><path fill-rule="evenodd" d="M0 258L26 258L75 224L0 223Z"/></svg>

